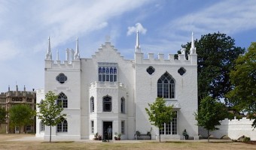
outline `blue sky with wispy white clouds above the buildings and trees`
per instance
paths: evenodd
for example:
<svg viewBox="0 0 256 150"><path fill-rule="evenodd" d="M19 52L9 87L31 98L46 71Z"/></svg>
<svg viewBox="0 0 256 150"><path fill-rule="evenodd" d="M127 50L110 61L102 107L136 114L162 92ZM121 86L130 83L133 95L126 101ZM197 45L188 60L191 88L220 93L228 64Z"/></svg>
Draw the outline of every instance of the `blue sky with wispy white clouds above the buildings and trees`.
<svg viewBox="0 0 256 150"><path fill-rule="evenodd" d="M53 59L66 48L90 58L110 42L133 59L136 30L148 52L176 53L191 39L220 31L247 48L256 41L254 0L0 0L0 92L44 87L44 57L50 36Z"/></svg>

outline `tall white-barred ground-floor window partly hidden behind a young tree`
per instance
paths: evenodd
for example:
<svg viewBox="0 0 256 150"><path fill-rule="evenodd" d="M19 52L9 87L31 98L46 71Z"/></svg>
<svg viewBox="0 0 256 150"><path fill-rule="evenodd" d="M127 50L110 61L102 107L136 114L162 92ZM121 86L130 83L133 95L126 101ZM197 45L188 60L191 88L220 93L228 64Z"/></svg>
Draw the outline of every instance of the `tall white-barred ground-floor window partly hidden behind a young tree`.
<svg viewBox="0 0 256 150"><path fill-rule="evenodd" d="M175 111L175 116L172 121L162 124L163 129L160 130L160 134L177 134L177 112Z"/></svg>

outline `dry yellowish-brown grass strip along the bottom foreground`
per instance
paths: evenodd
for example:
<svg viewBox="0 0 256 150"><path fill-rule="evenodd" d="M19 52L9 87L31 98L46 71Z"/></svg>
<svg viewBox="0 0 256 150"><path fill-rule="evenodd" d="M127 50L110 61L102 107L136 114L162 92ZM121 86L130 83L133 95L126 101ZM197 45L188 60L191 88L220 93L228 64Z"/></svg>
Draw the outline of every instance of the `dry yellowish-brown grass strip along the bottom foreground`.
<svg viewBox="0 0 256 150"><path fill-rule="evenodd" d="M74 142L74 141L63 141L63 142L46 142L46 141L9 141L8 139L19 139L22 136L32 135L17 135L17 134L0 134L0 149L111 149L111 150L125 150L125 149L159 149L159 150L194 150L194 149L209 149L209 150L240 150L240 149L255 149L255 145L246 144L242 142L157 142L157 141L143 141L143 142ZM34 136L34 135L33 135Z"/></svg>

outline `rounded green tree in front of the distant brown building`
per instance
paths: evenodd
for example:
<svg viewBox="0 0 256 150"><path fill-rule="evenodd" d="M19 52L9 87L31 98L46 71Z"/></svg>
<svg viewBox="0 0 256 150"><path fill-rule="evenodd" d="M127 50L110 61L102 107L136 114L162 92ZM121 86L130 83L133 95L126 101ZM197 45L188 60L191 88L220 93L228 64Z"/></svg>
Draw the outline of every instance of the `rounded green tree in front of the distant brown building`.
<svg viewBox="0 0 256 150"><path fill-rule="evenodd" d="M18 126L19 133L22 126L33 123L33 116L35 116L35 110L27 104L16 104L9 110L11 125Z"/></svg>

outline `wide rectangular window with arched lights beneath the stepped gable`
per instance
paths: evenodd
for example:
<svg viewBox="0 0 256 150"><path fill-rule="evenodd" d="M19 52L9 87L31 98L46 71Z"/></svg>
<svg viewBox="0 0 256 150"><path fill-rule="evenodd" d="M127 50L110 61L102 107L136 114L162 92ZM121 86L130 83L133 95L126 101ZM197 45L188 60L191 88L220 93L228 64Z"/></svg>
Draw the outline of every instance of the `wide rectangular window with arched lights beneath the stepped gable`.
<svg viewBox="0 0 256 150"><path fill-rule="evenodd" d="M117 82L117 63L99 63L98 65L100 82Z"/></svg>

